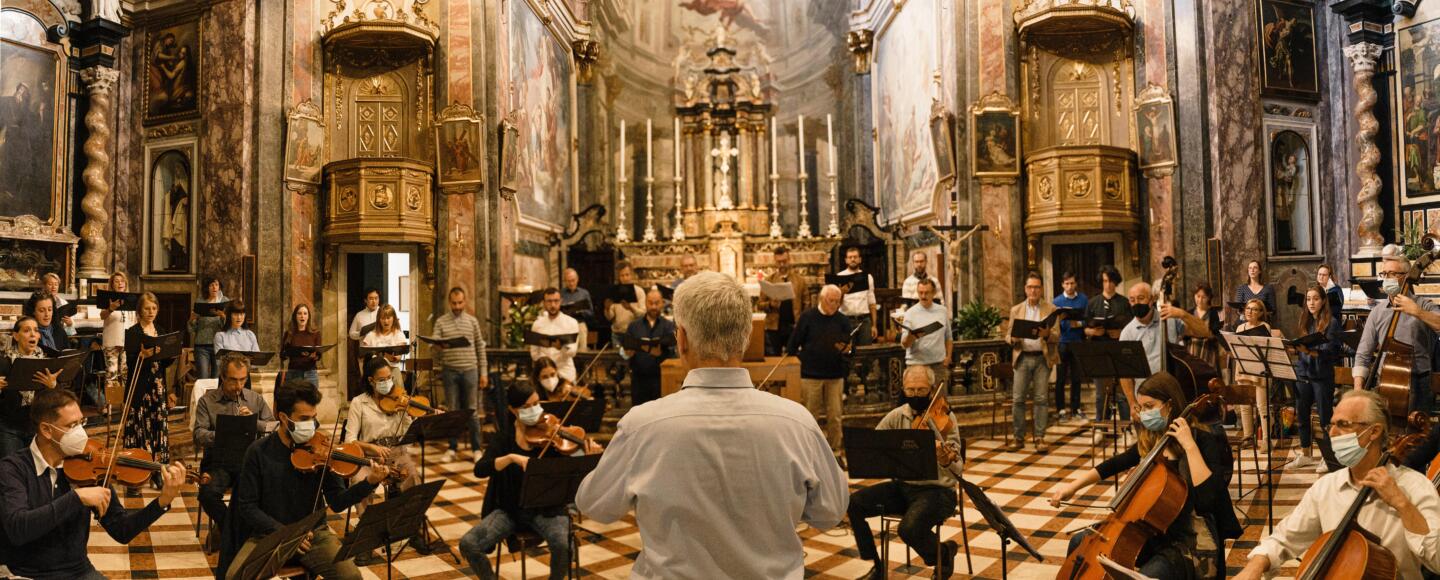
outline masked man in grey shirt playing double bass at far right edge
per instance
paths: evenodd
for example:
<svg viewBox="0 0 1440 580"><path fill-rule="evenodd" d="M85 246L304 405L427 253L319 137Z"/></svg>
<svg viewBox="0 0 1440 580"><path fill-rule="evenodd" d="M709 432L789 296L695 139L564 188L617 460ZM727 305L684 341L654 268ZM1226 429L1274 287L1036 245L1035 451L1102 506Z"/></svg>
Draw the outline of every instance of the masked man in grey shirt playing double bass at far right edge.
<svg viewBox="0 0 1440 580"><path fill-rule="evenodd" d="M1395 312L1408 314L1395 322L1395 341L1414 345L1414 366L1410 368L1410 412L1430 412L1434 400L1430 391L1430 344L1440 330L1440 305L1427 298L1400 294L1405 276L1410 275L1410 260L1405 259L1400 246L1388 245L1381 250L1380 278L1390 299L1375 302L1365 318L1365 330L1359 337L1359 347L1355 348L1355 368L1351 376L1355 379L1355 389L1364 389L1365 379L1369 377L1371 364L1380 355L1385 343L1385 330Z"/></svg>

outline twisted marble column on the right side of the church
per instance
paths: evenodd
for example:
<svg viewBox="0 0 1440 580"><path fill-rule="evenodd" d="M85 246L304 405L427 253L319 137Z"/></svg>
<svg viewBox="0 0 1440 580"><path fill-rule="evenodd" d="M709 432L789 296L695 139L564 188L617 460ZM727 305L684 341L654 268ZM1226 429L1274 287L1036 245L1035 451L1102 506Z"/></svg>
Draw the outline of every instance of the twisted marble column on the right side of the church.
<svg viewBox="0 0 1440 580"><path fill-rule="evenodd" d="M1380 132L1380 121L1375 119L1375 101L1380 96L1375 94L1372 82L1375 63L1384 50L1382 46L1368 42L1345 47L1345 58L1349 59L1355 73L1355 94L1359 98L1355 102L1355 121L1359 124L1359 128L1355 130L1355 144L1359 145L1359 161L1355 163L1355 170L1359 173L1359 191L1355 193L1355 204L1359 206L1361 213L1359 225L1355 229L1355 235L1359 237L1359 250L1356 252L1359 256L1378 256L1380 248L1385 243L1384 237L1380 236L1384 210L1380 207L1380 174L1375 173L1375 167L1380 166L1380 148L1375 147L1375 134Z"/></svg>

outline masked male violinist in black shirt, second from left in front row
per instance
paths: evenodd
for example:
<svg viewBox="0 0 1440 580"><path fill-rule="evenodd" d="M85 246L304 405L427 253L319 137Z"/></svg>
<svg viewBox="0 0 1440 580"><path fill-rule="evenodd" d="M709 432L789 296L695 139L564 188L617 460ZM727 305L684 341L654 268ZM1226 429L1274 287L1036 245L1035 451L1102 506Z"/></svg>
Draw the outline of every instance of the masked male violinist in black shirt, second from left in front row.
<svg viewBox="0 0 1440 580"><path fill-rule="evenodd" d="M235 484L230 514L220 538L220 577L230 579L255 544L285 524L297 522L318 508L320 497L333 511L344 511L369 497L390 475L384 465L372 463L370 475L356 485L331 471L300 471L291 452L307 446L317 436L320 390L302 380L292 380L275 390L275 414L281 426L245 450L240 476ZM354 560L336 563L340 537L324 521L300 545L300 566L324 579L357 580Z"/></svg>

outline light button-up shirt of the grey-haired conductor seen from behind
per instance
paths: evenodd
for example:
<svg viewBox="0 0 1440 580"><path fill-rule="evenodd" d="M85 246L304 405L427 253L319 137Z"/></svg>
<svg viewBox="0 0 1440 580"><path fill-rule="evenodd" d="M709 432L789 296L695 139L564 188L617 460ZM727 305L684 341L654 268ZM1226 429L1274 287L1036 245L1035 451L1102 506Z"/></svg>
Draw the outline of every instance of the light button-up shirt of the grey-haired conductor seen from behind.
<svg viewBox="0 0 1440 580"><path fill-rule="evenodd" d="M795 527L840 524L850 489L805 407L756 390L744 368L696 368L621 419L575 502L602 522L635 511L631 579L799 580Z"/></svg>

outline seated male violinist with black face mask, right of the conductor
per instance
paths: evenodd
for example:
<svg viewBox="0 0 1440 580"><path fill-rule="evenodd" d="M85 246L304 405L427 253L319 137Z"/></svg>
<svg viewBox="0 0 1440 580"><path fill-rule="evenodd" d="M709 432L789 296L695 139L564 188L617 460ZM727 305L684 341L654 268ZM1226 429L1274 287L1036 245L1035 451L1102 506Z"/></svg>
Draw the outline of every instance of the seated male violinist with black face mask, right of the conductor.
<svg viewBox="0 0 1440 580"><path fill-rule="evenodd" d="M900 406L886 413L876 429L910 429L914 417L930 406L930 391L936 383L935 373L927 366L910 366L904 370L904 399ZM955 570L956 544L953 540L940 544L936 554L935 525L955 515L955 486L959 484L950 465L959 461L960 435L950 414L950 430L945 442L935 448L940 463L939 478L932 481L891 479L857 491L850 495L850 528L855 533L855 547L863 560L874 561L867 579L884 579L886 564L876 553L876 540L870 533L867 518L876 515L903 515L900 540L914 548L924 566L939 566L939 577L948 579Z"/></svg>

